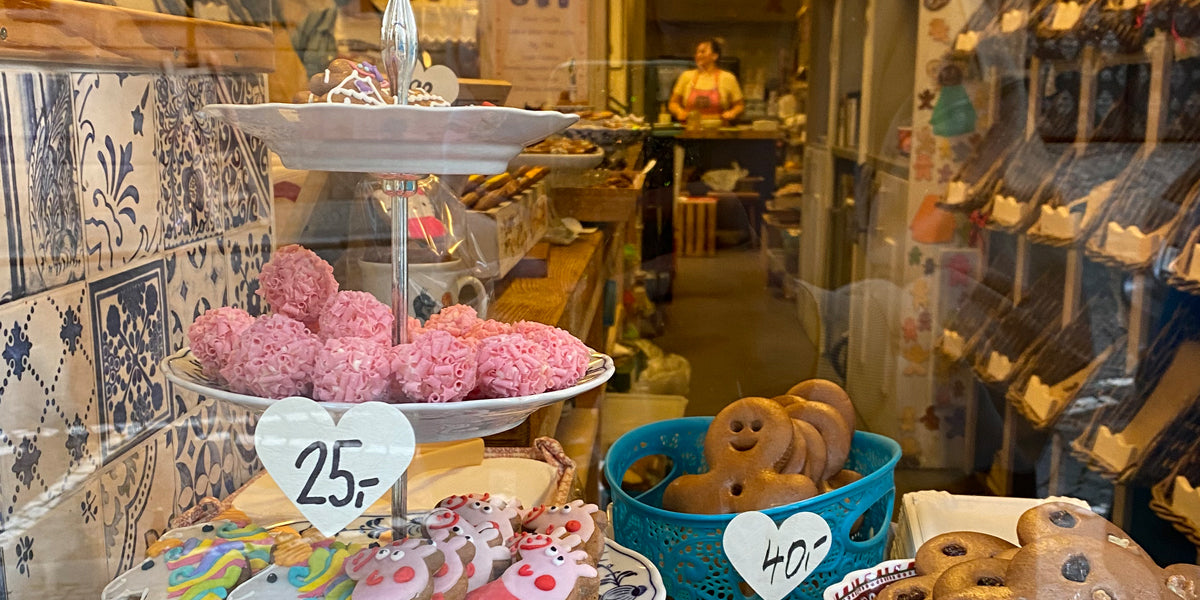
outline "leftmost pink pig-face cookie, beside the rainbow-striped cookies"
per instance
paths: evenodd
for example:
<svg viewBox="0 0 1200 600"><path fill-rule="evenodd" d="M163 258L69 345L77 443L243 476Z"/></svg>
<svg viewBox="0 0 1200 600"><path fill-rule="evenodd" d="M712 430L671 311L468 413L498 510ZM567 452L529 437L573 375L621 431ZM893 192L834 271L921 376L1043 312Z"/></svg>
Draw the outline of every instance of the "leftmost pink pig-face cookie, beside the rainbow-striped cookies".
<svg viewBox="0 0 1200 600"><path fill-rule="evenodd" d="M346 574L355 600L431 600L445 557L430 540L404 539L350 557Z"/></svg>

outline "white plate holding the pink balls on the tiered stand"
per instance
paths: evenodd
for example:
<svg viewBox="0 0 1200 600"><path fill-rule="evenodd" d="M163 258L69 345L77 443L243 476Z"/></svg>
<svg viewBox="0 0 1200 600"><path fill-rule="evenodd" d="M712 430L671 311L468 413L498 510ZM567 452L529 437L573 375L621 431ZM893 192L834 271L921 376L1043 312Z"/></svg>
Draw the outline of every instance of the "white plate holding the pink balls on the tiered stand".
<svg viewBox="0 0 1200 600"><path fill-rule="evenodd" d="M253 410L264 410L275 402L271 398L236 394L223 388L223 383L204 376L200 364L190 348L184 348L162 361L167 379L197 394L218 398ZM516 427L534 410L578 396L605 382L616 372L612 359L606 354L592 353L588 370L578 383L565 390L547 391L512 398L464 400L445 403L395 404L413 424L418 443L451 442L491 436ZM354 404L319 402L330 413L344 413Z"/></svg>

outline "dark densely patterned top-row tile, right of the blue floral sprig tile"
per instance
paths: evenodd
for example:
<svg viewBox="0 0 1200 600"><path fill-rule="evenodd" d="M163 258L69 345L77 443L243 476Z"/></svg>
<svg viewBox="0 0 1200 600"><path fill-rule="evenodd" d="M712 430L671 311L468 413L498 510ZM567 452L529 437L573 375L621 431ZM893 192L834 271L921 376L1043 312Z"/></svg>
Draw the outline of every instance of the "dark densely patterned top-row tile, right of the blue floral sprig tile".
<svg viewBox="0 0 1200 600"><path fill-rule="evenodd" d="M155 156L158 160L163 244L167 248L210 238L222 227L216 132L196 112L216 102L214 76L155 79Z"/></svg>

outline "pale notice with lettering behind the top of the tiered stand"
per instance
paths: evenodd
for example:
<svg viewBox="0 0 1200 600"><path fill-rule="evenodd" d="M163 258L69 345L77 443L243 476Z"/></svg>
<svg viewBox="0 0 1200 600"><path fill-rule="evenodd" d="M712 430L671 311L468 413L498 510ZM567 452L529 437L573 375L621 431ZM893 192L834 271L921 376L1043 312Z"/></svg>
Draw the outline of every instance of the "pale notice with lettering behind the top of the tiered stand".
<svg viewBox="0 0 1200 600"><path fill-rule="evenodd" d="M481 2L486 77L512 83L505 104L554 106L565 92L588 97L588 2L494 0Z"/></svg>

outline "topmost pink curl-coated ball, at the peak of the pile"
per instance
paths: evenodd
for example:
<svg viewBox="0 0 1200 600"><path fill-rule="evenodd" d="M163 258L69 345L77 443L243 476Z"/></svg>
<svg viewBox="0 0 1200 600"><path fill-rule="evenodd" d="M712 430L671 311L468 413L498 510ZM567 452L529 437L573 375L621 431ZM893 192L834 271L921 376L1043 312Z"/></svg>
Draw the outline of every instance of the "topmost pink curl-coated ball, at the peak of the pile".
<svg viewBox="0 0 1200 600"><path fill-rule="evenodd" d="M294 244L277 250L258 276L258 295L271 311L306 325L317 323L336 293L334 268L316 252Z"/></svg>

